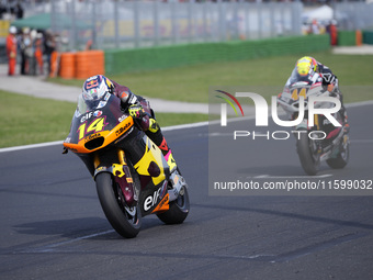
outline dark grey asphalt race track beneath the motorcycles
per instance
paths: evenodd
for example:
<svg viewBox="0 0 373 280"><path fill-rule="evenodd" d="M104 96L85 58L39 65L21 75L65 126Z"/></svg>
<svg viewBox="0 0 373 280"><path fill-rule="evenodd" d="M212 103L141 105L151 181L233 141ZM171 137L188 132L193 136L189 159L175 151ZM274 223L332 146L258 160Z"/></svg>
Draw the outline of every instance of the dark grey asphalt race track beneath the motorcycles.
<svg viewBox="0 0 373 280"><path fill-rule="evenodd" d="M373 179L372 112L349 109L350 163L321 175ZM133 239L112 229L72 153L0 153L0 279L373 279L373 197L211 197L207 127L166 135L191 212L172 226L147 216ZM304 176L294 141L278 145L250 150L248 176Z"/></svg>

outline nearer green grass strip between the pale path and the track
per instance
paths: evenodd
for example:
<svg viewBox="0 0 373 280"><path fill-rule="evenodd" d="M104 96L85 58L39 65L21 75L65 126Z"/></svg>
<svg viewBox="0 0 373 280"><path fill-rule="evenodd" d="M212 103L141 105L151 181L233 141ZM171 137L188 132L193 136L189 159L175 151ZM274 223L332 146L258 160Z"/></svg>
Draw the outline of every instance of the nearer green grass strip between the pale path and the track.
<svg viewBox="0 0 373 280"><path fill-rule="evenodd" d="M65 139L76 109L71 102L60 102L15 94L0 90L0 147L11 147ZM160 125L206 121L205 114L157 113Z"/></svg>

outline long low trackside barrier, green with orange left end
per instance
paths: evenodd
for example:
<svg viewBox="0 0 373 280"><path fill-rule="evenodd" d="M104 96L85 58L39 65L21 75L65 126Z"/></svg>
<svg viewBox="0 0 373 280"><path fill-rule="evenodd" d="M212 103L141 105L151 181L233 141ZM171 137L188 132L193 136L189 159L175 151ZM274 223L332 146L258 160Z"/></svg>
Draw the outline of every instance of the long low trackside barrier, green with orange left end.
<svg viewBox="0 0 373 280"><path fill-rule="evenodd" d="M137 49L63 53L59 76L86 79L97 74L123 74L213 61L235 61L330 48L328 35L291 36L258 41L182 44Z"/></svg>

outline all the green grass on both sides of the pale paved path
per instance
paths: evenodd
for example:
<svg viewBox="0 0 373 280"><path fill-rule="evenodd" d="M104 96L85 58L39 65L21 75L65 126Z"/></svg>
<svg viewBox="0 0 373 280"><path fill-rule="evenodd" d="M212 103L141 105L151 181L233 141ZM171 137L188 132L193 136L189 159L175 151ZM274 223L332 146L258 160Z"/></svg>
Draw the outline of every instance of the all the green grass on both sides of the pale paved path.
<svg viewBox="0 0 373 280"><path fill-rule="evenodd" d="M340 80L344 102L373 99L373 56L307 54L329 66ZM245 61L202 64L156 71L110 76L135 93L167 100L207 102L210 86L250 86L269 99L276 96L299 55ZM82 80L50 79L81 87ZM0 147L64 139L76 104L0 91ZM205 114L156 112L162 127L207 121Z"/></svg>

